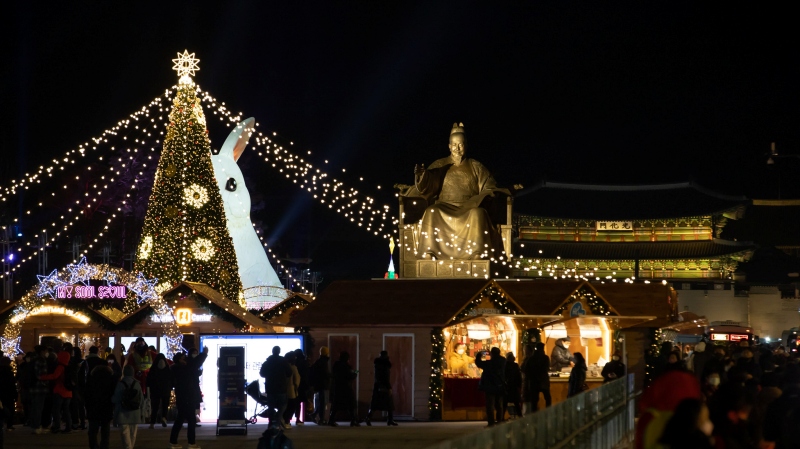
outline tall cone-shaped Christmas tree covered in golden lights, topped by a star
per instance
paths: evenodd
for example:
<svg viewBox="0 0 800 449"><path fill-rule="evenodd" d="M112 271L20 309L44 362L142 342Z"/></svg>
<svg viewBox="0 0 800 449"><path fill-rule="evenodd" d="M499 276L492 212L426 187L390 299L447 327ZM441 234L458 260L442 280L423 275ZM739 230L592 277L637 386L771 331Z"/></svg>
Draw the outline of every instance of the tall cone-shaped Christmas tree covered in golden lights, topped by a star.
<svg viewBox="0 0 800 449"><path fill-rule="evenodd" d="M231 301L242 283L225 208L211 165L211 142L197 98L194 53L178 53L180 81L147 206L136 270L163 292L180 281L202 282Z"/></svg>

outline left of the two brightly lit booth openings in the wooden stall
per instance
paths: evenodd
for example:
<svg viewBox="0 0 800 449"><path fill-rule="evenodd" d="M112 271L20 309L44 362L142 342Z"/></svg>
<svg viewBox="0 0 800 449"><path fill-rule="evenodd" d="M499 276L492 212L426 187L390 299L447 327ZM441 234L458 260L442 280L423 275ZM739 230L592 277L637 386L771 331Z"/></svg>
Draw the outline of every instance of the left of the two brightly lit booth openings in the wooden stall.
<svg viewBox="0 0 800 449"><path fill-rule="evenodd" d="M480 377L475 357L481 351L500 348L505 356L513 352L518 357L519 336L508 317L480 317L444 329L446 377Z"/></svg>

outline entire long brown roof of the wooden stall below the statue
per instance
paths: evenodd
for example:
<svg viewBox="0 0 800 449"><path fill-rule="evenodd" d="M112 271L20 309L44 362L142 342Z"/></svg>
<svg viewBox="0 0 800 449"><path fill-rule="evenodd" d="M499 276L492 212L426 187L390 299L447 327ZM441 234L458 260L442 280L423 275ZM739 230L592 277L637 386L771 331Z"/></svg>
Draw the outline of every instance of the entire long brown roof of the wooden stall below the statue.
<svg viewBox="0 0 800 449"><path fill-rule="evenodd" d="M336 281L297 312L296 327L447 326L452 318L490 284L503 290L520 309L520 318L552 321L553 313L581 288L590 288L618 315L661 327L670 323L674 291L659 284L591 284L565 280L371 280ZM545 319L546 318L546 319ZM629 320L630 321L630 320ZM631 324L633 325L633 324Z"/></svg>

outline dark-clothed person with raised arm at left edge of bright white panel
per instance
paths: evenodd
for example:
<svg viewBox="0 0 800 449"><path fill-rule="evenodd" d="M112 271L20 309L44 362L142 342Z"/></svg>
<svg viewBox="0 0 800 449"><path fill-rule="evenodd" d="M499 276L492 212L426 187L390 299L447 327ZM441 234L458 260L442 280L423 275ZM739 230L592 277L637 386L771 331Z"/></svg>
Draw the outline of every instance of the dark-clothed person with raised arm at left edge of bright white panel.
<svg viewBox="0 0 800 449"><path fill-rule="evenodd" d="M200 391L200 368L208 358L208 347L203 348L203 352L197 357L186 357L184 354L176 354L172 358L172 379L175 386L175 405L178 413L175 422L172 424L172 431L169 435L169 442L173 448L181 447L178 445L178 435L180 435L183 422L186 421L186 436L189 439L189 449L199 449L195 444L195 427L197 415L195 407L202 399Z"/></svg>

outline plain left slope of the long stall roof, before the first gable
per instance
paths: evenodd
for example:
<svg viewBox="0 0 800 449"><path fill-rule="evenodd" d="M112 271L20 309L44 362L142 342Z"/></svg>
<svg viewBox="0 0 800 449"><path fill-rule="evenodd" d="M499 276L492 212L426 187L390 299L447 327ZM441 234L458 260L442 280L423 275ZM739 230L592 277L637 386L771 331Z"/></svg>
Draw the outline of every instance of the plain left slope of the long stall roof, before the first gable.
<svg viewBox="0 0 800 449"><path fill-rule="evenodd" d="M289 320L301 327L446 326L491 281L335 281Z"/></svg>

